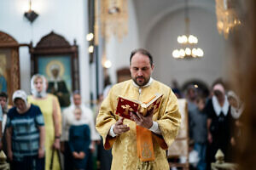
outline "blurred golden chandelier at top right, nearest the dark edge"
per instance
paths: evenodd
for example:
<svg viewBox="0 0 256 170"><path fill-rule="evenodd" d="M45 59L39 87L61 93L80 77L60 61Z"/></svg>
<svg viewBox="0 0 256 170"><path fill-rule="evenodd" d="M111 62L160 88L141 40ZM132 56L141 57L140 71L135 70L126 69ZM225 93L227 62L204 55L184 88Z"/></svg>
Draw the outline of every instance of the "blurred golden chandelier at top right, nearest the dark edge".
<svg viewBox="0 0 256 170"><path fill-rule="evenodd" d="M218 33L223 33L224 37L228 38L230 31L235 26L241 25L241 20L236 14L236 2L234 0L215 0L215 2Z"/></svg>

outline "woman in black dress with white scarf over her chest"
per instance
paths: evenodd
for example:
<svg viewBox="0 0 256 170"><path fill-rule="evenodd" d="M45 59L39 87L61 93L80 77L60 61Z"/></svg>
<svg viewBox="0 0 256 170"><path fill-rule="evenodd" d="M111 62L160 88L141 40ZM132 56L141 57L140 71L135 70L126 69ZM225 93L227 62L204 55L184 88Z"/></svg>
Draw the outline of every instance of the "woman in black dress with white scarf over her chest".
<svg viewBox="0 0 256 170"><path fill-rule="evenodd" d="M225 161L229 160L230 149L230 105L225 95L224 86L217 83L212 88L212 99L209 99L205 108L207 112L208 148L207 166L215 161L218 149L224 152Z"/></svg>

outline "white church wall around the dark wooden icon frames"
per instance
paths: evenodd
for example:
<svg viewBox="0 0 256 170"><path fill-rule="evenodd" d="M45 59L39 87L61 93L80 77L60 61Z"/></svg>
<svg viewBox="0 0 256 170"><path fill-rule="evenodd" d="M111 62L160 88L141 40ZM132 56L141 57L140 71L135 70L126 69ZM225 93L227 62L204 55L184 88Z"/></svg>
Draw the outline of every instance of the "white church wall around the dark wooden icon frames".
<svg viewBox="0 0 256 170"><path fill-rule="evenodd" d="M28 0L0 1L0 31L8 33L19 43L38 41L50 31L65 37L73 44L76 39L79 45L80 89L84 100L90 99L89 55L87 53L87 1L76 0L37 0L32 1L32 9L39 16L31 24L24 17L28 10ZM30 54L27 48L20 48L21 88L30 92Z"/></svg>

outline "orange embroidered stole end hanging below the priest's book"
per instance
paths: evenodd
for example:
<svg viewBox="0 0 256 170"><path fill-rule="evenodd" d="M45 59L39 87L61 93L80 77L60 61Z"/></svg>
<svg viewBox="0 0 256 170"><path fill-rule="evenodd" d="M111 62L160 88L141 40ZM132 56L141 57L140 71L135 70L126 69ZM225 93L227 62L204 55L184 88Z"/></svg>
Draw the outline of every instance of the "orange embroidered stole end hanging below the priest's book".
<svg viewBox="0 0 256 170"><path fill-rule="evenodd" d="M144 127L136 126L137 129L137 156L141 161L154 161L154 148L152 133Z"/></svg>

